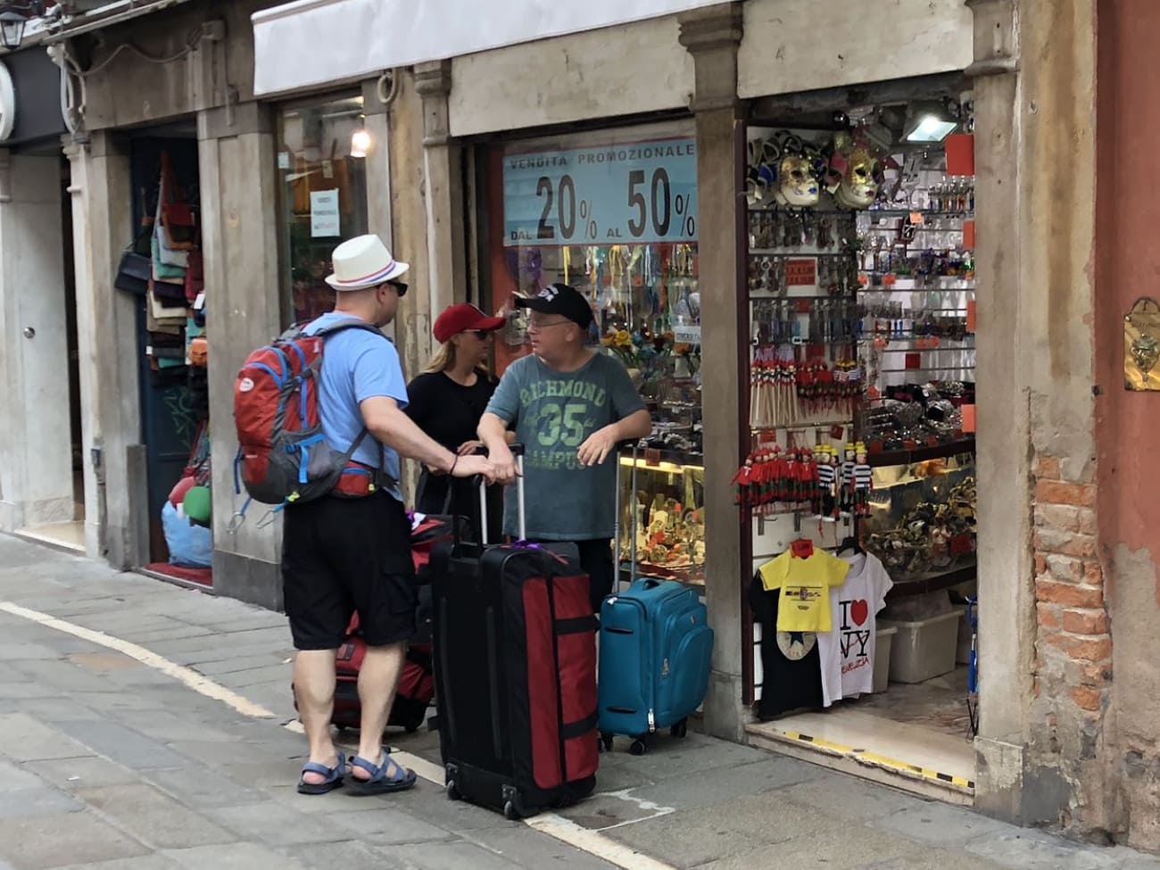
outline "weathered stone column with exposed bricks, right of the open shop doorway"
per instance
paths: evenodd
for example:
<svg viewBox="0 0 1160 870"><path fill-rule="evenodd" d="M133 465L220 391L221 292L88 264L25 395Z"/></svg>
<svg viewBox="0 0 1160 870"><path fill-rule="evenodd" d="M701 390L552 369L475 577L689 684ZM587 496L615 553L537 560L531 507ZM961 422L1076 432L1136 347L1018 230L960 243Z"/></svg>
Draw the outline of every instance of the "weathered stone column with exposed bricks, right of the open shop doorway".
<svg viewBox="0 0 1160 870"><path fill-rule="evenodd" d="M1096 0L966 5L979 225L976 806L1115 835L1111 636L1092 509Z"/></svg>

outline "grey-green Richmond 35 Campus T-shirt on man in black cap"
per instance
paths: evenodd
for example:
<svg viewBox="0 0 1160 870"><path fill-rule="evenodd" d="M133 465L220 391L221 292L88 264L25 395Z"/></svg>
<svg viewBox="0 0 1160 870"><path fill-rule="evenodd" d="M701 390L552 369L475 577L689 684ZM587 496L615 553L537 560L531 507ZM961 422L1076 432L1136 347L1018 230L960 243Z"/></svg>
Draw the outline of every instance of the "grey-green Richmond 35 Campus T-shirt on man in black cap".
<svg viewBox="0 0 1160 870"><path fill-rule="evenodd" d="M587 541L612 537L616 455L585 467L580 445L597 429L644 408L624 367L596 354L577 371L554 371L538 356L516 360L503 372L487 413L515 421L524 445L524 510L529 538ZM519 534L514 487L503 531Z"/></svg>

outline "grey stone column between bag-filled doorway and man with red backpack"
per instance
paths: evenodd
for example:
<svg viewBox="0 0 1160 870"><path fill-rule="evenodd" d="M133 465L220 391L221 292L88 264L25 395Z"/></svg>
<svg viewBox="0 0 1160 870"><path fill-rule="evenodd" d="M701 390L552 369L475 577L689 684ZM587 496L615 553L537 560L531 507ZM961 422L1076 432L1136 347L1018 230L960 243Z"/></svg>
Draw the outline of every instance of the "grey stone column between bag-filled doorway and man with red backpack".
<svg viewBox="0 0 1160 870"><path fill-rule="evenodd" d="M210 345L210 432L213 444L213 588L270 609L282 607L281 520L253 503L235 531L245 501L234 493L233 383L246 356L283 326L277 237L277 179L269 107L242 103L197 116L201 165L205 329Z"/></svg>

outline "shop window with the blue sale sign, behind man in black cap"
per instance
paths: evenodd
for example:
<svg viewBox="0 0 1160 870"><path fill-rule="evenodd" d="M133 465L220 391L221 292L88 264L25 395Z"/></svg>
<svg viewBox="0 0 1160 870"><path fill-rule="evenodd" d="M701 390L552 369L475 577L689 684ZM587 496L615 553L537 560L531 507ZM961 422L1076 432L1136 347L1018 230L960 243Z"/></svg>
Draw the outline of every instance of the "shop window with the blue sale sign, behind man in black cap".
<svg viewBox="0 0 1160 870"><path fill-rule="evenodd" d="M587 296L592 342L624 363L653 418L636 458L632 449L621 457L624 575L636 558L637 575L703 583L691 129L514 142L491 152L488 169L492 306L508 320L495 346L498 370L531 353L515 297L556 282Z"/></svg>

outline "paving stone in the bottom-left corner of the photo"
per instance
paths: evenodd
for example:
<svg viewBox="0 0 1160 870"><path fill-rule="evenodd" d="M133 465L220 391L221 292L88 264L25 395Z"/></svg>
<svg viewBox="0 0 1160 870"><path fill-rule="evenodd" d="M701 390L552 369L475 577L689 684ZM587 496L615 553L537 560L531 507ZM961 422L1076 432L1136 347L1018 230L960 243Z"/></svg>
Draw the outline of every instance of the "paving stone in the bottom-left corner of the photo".
<svg viewBox="0 0 1160 870"><path fill-rule="evenodd" d="M0 858L15 870L88 865L146 854L140 842L89 812L0 821Z"/></svg>

